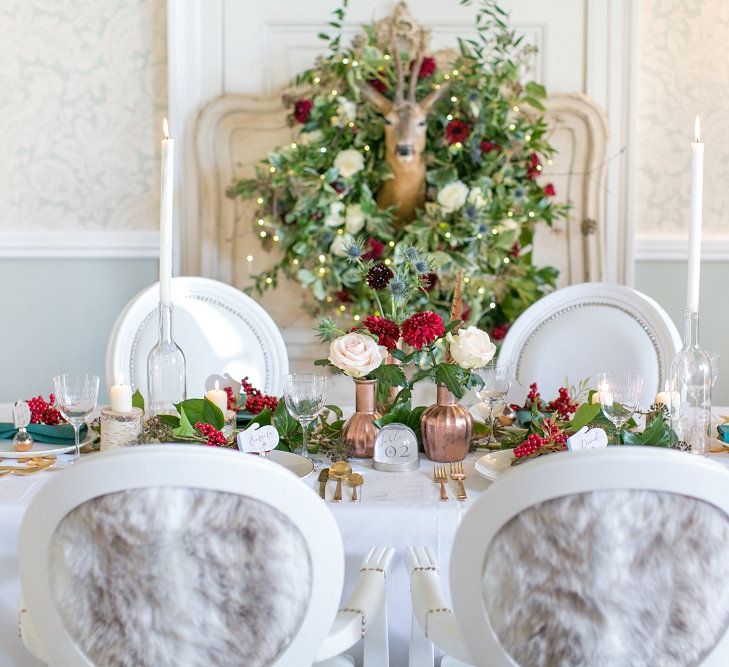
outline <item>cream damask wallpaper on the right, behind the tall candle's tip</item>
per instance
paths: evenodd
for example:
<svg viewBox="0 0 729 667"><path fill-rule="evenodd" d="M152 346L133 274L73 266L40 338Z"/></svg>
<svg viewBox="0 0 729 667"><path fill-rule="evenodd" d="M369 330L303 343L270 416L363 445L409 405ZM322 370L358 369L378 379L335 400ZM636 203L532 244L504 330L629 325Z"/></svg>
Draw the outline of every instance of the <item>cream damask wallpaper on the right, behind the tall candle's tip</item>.
<svg viewBox="0 0 729 667"><path fill-rule="evenodd" d="M729 232L729 2L642 0L638 61L640 235L685 234L690 142L701 114L704 230Z"/></svg>

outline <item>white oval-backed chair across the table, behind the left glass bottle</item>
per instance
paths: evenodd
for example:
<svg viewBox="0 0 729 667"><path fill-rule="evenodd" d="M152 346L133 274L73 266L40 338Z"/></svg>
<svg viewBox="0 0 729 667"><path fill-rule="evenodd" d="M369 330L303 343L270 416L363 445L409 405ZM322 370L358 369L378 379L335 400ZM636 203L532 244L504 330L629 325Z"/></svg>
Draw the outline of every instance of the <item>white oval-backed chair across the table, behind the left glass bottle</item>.
<svg viewBox="0 0 729 667"><path fill-rule="evenodd" d="M185 355L188 397L240 384L248 376L280 396L288 373L286 345L276 323L251 297L210 278L172 279L174 338ZM159 286L137 294L119 314L106 347L106 381L121 377L147 394L147 357L159 335Z"/></svg>

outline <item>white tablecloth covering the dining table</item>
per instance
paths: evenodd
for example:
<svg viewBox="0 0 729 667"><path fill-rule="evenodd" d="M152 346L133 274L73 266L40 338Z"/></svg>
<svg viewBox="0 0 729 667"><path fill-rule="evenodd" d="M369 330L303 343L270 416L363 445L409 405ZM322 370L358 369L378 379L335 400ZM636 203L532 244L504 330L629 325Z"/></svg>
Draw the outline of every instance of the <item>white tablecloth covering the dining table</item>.
<svg viewBox="0 0 729 667"><path fill-rule="evenodd" d="M729 412L717 408L722 414ZM391 546L397 550L392 576L388 580L388 612L390 623L390 664L407 665L410 641L410 586L402 562L406 546L430 546L439 559L443 573L442 582L447 588L449 557L458 524L463 513L482 494L489 482L473 471L473 462L483 453L470 454L466 459L466 491L469 500L459 502L455 498L455 482L448 483L450 500L439 500L439 485L432 481L433 463L421 458L420 469L410 473L384 473L372 470L369 461L353 461L352 467L362 472L365 485L361 488L362 502L351 502L351 489L345 486L344 501L331 502L334 483L327 488L327 506L332 510L342 533L346 557L344 596L350 593L359 564L364 554L373 546ZM91 454L89 456L95 456ZM714 454L712 458L729 465L729 454ZM17 630L17 603L20 594L18 578L17 539L23 513L33 495L51 476L62 473L38 473L31 477L11 477L16 482L29 485L28 492L18 501L0 500L0 667L35 667L39 665L23 647ZM317 488L317 474L306 480ZM377 487L394 489L407 486L410 493L422 493L422 499L410 502L367 501L368 490ZM4 480L0 480L0 493ZM421 489L421 491L418 491ZM359 651L353 651L359 656ZM358 664L360 664L358 662Z"/></svg>

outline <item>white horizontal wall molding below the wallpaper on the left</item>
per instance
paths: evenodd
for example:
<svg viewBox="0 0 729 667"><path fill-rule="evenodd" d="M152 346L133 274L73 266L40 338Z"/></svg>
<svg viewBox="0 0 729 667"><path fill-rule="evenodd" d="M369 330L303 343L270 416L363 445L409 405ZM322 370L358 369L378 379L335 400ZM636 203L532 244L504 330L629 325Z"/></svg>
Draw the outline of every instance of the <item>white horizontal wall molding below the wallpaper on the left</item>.
<svg viewBox="0 0 729 667"><path fill-rule="evenodd" d="M2 259L140 259L159 256L159 232L0 232Z"/></svg>

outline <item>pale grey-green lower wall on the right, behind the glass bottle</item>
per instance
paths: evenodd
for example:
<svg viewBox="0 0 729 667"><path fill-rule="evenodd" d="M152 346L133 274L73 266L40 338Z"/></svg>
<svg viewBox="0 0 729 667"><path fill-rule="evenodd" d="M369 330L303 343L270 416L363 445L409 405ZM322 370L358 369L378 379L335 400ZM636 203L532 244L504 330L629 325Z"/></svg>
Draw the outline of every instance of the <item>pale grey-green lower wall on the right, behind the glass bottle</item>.
<svg viewBox="0 0 729 667"><path fill-rule="evenodd" d="M686 262L637 262L635 288L653 297L673 318L683 335L686 307ZM700 342L706 350L721 355L719 378L714 387L714 405L729 406L729 262L701 265Z"/></svg>

